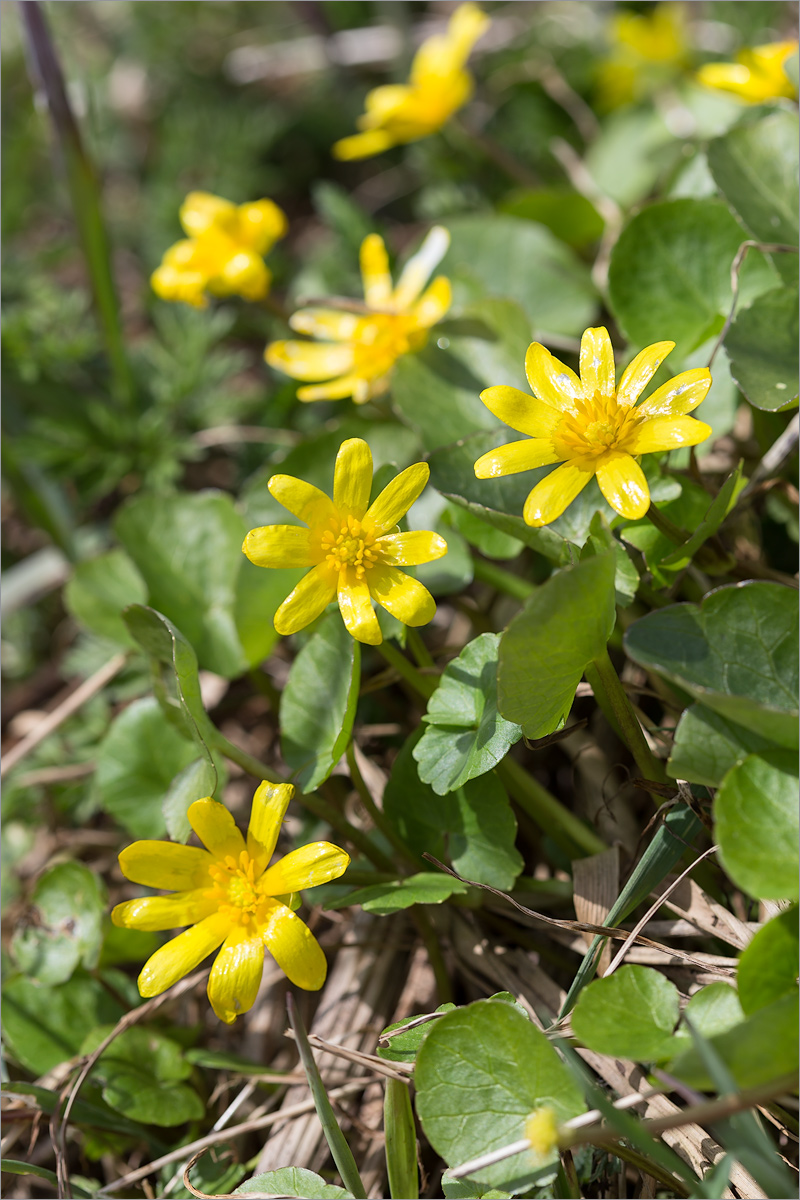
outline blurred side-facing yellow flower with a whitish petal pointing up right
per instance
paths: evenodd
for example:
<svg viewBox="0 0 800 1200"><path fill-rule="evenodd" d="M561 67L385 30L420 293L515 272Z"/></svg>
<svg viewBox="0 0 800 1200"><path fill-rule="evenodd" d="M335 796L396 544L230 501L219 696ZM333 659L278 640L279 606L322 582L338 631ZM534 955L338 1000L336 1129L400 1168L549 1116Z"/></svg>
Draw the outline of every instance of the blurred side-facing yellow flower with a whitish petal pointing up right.
<svg viewBox="0 0 800 1200"><path fill-rule="evenodd" d="M403 354L421 349L428 330L441 320L451 301L450 280L431 274L450 245L450 234L434 226L416 254L403 268L392 289L383 238L371 233L361 242L361 277L366 306L301 308L289 320L300 334L319 342L272 342L264 358L293 379L307 379L297 400L343 400L363 404L389 388L391 370ZM347 301L344 301L347 305ZM357 308L357 301L350 301ZM318 380L326 380L320 383Z"/></svg>

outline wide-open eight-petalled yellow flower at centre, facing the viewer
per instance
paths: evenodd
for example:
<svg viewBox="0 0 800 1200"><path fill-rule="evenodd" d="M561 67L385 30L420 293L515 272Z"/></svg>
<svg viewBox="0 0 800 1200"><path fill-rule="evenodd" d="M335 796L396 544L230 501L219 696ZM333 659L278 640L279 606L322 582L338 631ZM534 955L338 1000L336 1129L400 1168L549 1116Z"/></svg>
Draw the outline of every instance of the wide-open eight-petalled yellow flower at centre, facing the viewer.
<svg viewBox="0 0 800 1200"><path fill-rule="evenodd" d="M425 625L435 601L417 580L399 570L431 563L447 553L438 533L399 533L403 517L428 481L425 462L407 467L372 504L372 454L361 438L343 442L333 470L333 499L318 487L273 475L267 487L276 500L307 526L251 529L242 550L257 566L311 566L275 614L278 634L296 634L338 598L342 618L359 642L379 646L380 625L373 599L404 625Z"/></svg>

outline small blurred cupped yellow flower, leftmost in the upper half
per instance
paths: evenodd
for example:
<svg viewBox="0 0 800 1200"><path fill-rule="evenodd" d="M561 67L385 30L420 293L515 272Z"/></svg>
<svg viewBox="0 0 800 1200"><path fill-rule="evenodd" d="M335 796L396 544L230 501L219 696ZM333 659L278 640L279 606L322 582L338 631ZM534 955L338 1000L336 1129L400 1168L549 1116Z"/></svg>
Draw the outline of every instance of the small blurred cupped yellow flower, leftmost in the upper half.
<svg viewBox="0 0 800 1200"><path fill-rule="evenodd" d="M170 246L150 276L162 300L182 300L196 308L205 293L260 300L271 272L263 256L287 232L287 218L272 200L236 206L210 192L190 192L180 218L188 238Z"/></svg>

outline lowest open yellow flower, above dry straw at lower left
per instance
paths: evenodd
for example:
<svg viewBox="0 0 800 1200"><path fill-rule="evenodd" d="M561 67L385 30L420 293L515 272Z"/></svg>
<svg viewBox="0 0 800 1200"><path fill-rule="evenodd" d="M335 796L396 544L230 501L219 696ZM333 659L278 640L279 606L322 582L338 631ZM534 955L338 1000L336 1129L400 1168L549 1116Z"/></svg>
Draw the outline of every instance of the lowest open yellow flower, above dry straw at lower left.
<svg viewBox="0 0 800 1200"><path fill-rule="evenodd" d="M295 916L294 893L337 878L350 862L338 846L313 841L269 865L294 793L290 784L263 782L253 797L247 840L223 804L190 805L192 829L206 850L169 841L134 841L120 854L122 874L173 895L118 904L115 925L161 930L191 925L156 950L139 976L143 996L158 996L222 947L209 976L209 1000L230 1024L253 1007L264 947L299 988L315 991L327 965L319 942Z"/></svg>

